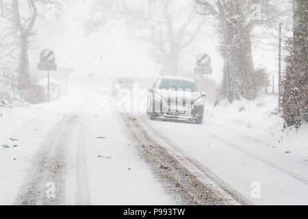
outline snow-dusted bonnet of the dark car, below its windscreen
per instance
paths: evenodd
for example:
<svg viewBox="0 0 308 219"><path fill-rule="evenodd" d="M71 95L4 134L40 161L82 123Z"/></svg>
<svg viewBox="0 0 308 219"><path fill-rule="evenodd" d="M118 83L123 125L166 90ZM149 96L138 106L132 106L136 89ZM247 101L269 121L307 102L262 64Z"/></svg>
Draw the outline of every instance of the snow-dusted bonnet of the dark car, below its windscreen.
<svg viewBox="0 0 308 219"><path fill-rule="evenodd" d="M192 103L202 97L200 92L187 92L187 91L175 91L175 90L159 90L156 89L155 94L159 94L159 96L162 96L164 101L168 103L170 101L171 103ZM191 102L190 102L191 101Z"/></svg>

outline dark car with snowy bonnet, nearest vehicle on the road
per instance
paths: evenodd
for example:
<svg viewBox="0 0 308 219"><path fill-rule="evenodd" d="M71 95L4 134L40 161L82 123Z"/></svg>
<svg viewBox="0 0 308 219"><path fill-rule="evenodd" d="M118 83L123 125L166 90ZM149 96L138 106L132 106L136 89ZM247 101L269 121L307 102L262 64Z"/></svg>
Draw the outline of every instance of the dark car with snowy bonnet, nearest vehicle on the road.
<svg viewBox="0 0 308 219"><path fill-rule="evenodd" d="M159 77L153 88L148 88L147 113L151 120L170 118L203 123L204 102L194 79Z"/></svg>

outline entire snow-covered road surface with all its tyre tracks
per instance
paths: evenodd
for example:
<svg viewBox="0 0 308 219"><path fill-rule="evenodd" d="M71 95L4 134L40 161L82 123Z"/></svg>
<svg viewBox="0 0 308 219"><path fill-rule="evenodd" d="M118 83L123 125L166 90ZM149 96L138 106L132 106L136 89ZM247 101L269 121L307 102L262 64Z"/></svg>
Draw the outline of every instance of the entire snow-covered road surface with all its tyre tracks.
<svg viewBox="0 0 308 219"><path fill-rule="evenodd" d="M72 88L3 111L0 204L308 204L308 164L292 155L206 117L151 121L116 112L103 89Z"/></svg>

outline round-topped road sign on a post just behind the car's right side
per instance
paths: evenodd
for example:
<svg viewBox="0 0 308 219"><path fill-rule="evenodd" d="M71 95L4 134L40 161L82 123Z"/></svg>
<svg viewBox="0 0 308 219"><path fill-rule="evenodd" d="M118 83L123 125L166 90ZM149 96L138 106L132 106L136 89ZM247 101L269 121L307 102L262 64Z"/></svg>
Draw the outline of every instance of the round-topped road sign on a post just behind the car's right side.
<svg viewBox="0 0 308 219"><path fill-rule="evenodd" d="M203 75L213 74L213 68L211 68L211 57L207 53L201 53L196 57L196 67L194 67L194 73L200 75L200 90L203 91Z"/></svg>

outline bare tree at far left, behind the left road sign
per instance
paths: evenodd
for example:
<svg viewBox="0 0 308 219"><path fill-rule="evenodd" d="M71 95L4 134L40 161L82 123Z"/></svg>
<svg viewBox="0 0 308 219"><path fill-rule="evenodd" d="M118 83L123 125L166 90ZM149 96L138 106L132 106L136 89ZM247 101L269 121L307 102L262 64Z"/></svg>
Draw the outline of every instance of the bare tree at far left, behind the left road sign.
<svg viewBox="0 0 308 219"><path fill-rule="evenodd" d="M1 29L0 55L11 57L16 62L17 79L14 87L19 90L27 90L31 87L31 80L28 72L29 59L28 50L31 37L34 36L34 25L38 18L38 7L44 7L47 1L43 0L0 0L0 19L5 23ZM59 2L53 1L55 5ZM42 8L42 11L44 9ZM1 21L0 21L1 22ZM2 70L3 72L3 70ZM12 75L12 78L14 75Z"/></svg>

